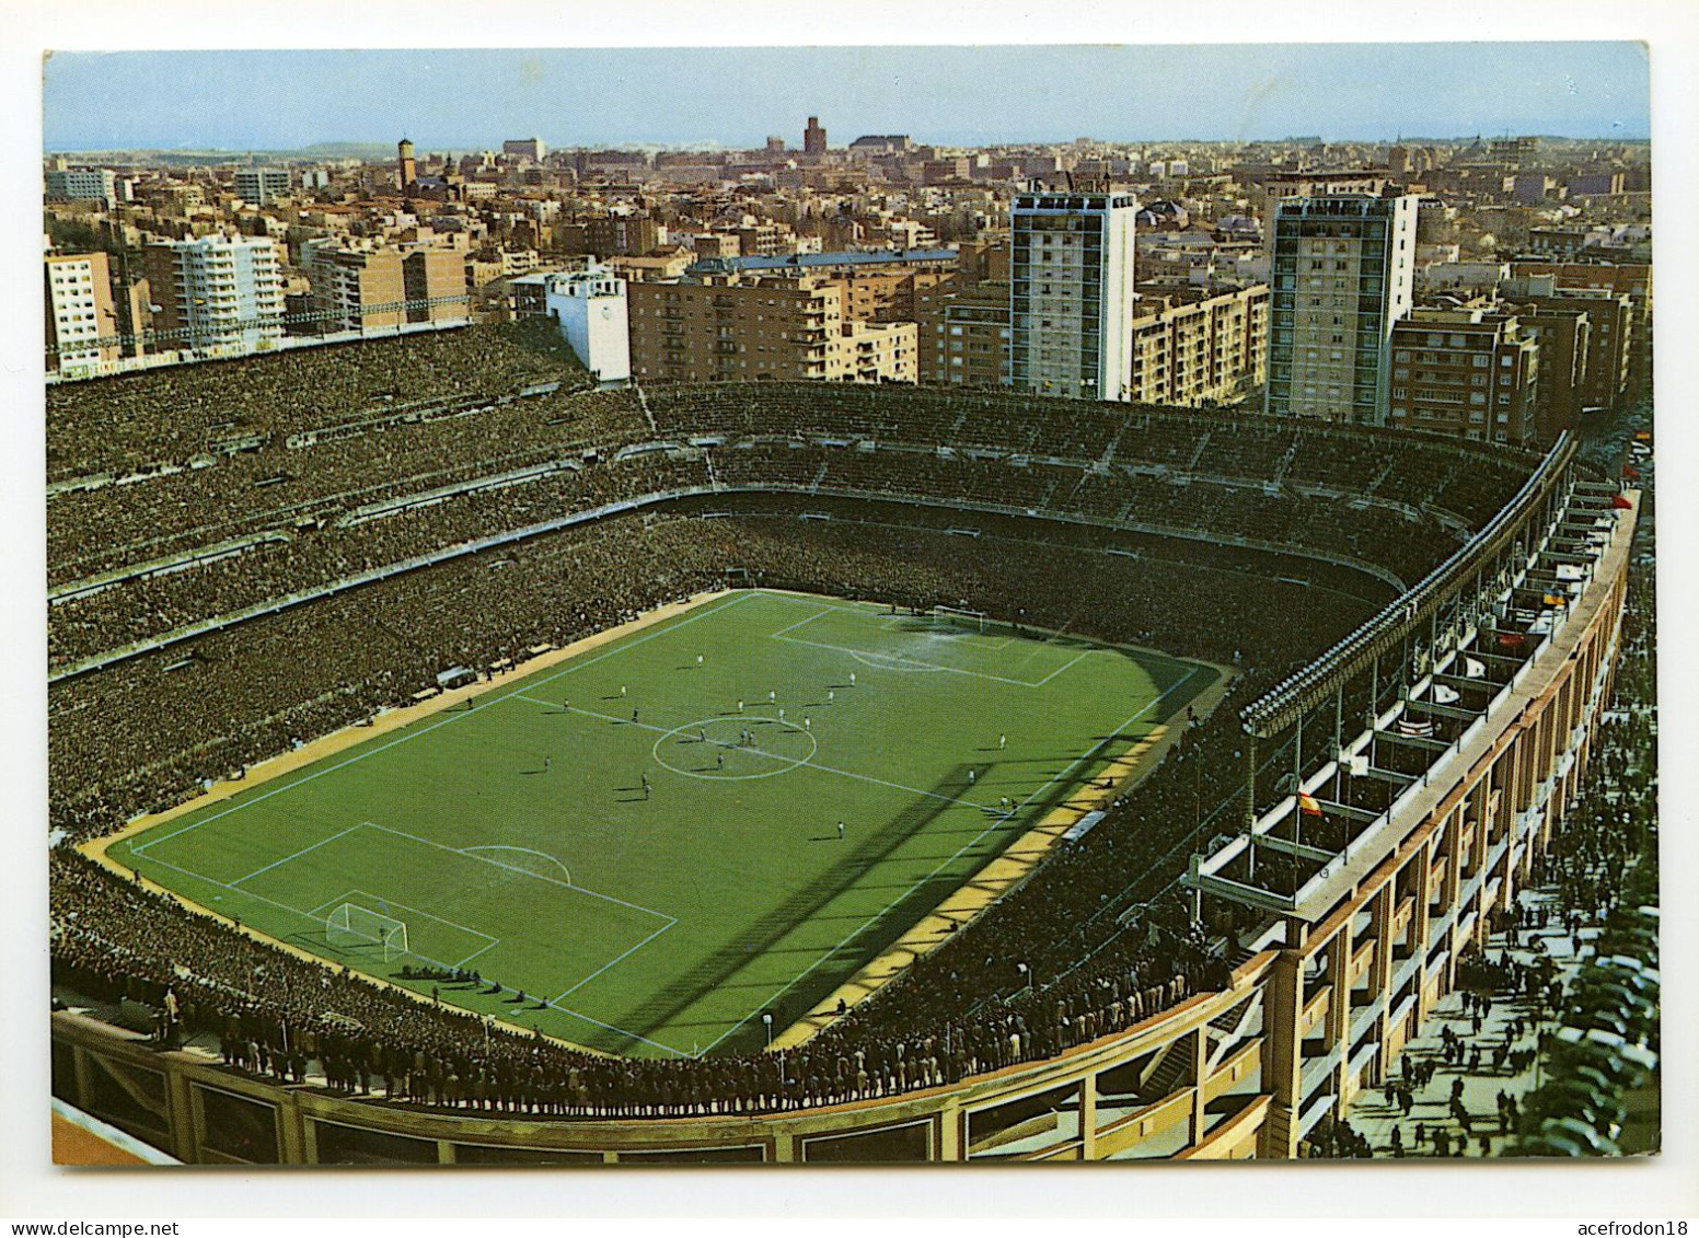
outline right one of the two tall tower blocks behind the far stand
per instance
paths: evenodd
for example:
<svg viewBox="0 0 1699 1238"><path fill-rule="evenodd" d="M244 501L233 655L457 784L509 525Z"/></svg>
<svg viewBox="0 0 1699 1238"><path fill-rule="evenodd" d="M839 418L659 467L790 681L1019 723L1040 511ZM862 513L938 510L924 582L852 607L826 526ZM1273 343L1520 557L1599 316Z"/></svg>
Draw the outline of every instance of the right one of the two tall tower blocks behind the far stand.
<svg viewBox="0 0 1699 1238"><path fill-rule="evenodd" d="M1414 194L1274 205L1266 409L1385 425L1393 324L1415 280Z"/></svg>

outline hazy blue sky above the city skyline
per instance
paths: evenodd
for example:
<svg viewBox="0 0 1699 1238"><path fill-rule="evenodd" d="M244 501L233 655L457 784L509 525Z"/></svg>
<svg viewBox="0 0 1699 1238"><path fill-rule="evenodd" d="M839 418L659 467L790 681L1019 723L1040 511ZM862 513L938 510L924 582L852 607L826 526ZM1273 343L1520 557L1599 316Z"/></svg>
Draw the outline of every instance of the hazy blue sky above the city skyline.
<svg viewBox="0 0 1699 1238"><path fill-rule="evenodd" d="M48 149L1646 138L1636 42L59 53Z"/></svg>

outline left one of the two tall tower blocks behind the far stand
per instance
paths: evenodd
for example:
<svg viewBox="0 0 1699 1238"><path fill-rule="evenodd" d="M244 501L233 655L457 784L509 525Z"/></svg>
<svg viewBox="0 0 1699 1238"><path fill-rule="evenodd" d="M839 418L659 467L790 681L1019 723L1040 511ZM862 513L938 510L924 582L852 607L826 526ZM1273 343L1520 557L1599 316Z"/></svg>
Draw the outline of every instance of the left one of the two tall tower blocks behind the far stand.
<svg viewBox="0 0 1699 1238"><path fill-rule="evenodd" d="M1016 389L1128 399L1132 194L1018 194L1011 212L1009 379Z"/></svg>

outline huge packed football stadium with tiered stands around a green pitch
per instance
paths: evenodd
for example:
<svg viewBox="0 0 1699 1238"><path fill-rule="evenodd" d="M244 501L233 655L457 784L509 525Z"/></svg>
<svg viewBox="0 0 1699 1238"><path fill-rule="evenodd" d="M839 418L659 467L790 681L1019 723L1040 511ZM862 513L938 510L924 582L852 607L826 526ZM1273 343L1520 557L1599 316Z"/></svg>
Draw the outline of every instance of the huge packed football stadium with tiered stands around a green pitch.
<svg viewBox="0 0 1699 1238"><path fill-rule="evenodd" d="M547 323L53 385L54 1095L189 1163L1368 1155L1436 1009L1546 992L1526 888L1655 902L1646 438Z"/></svg>

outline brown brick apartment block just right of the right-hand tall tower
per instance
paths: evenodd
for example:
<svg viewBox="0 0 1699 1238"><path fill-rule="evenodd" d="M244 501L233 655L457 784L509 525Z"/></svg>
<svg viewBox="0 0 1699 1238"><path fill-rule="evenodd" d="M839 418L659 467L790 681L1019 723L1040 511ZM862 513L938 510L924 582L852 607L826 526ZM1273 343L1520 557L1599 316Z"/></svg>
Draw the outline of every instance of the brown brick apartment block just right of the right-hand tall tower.
<svg viewBox="0 0 1699 1238"><path fill-rule="evenodd" d="M1391 331L1390 425L1475 442L1538 438L1539 341L1512 314L1417 309Z"/></svg>

